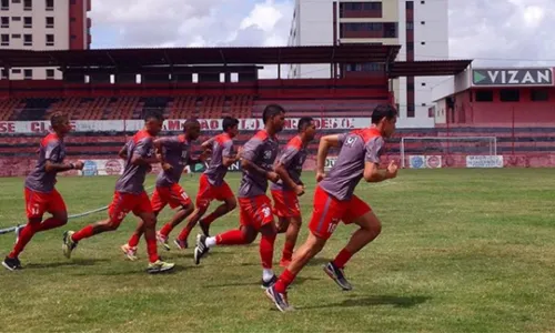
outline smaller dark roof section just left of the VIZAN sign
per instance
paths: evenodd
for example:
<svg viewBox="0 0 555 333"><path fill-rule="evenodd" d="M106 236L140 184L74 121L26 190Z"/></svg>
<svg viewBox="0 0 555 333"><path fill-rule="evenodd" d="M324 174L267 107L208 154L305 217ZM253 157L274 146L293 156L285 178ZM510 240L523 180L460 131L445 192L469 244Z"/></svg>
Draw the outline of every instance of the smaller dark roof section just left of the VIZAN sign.
<svg viewBox="0 0 555 333"><path fill-rule="evenodd" d="M443 77L464 71L472 60L398 61L390 67L390 78Z"/></svg>

